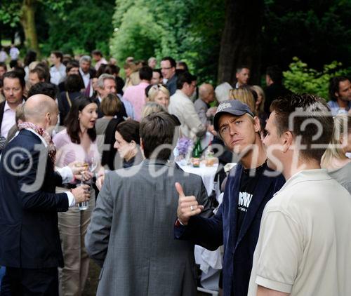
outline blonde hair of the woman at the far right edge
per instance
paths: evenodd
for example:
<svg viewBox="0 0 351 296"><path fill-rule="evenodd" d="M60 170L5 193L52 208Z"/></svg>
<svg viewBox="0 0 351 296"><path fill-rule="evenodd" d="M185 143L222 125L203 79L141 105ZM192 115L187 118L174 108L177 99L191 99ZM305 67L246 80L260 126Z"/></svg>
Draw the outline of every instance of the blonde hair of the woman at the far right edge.
<svg viewBox="0 0 351 296"><path fill-rule="evenodd" d="M347 127L347 128L346 128ZM345 139L343 135L351 133L351 115L350 114L338 114L334 117L334 126L331 142L326 148L322 159L322 168L329 168L333 159L347 159L345 156L345 149L340 147L340 144L344 142Z"/></svg>

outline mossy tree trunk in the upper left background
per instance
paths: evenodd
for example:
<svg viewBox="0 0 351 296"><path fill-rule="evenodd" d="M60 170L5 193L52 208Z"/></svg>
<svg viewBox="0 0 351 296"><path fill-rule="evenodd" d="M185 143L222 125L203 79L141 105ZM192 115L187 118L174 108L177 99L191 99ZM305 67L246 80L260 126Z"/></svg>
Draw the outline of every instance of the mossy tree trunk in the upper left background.
<svg viewBox="0 0 351 296"><path fill-rule="evenodd" d="M20 22L25 32L25 43L27 48L37 51L39 55L39 45L37 28L35 27L35 4L37 0L23 0L21 8Z"/></svg>

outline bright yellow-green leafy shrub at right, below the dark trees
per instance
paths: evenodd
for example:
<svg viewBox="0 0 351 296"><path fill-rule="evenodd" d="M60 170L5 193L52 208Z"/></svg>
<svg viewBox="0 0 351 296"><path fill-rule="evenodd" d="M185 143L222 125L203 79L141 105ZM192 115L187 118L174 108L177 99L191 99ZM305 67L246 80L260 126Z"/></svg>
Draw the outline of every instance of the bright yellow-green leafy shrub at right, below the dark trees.
<svg viewBox="0 0 351 296"><path fill-rule="evenodd" d="M284 85L293 93L311 93L328 100L329 79L333 76L346 75L347 69L340 69L341 62L333 61L324 65L322 71L309 68L305 62L294 57L289 70L284 72Z"/></svg>

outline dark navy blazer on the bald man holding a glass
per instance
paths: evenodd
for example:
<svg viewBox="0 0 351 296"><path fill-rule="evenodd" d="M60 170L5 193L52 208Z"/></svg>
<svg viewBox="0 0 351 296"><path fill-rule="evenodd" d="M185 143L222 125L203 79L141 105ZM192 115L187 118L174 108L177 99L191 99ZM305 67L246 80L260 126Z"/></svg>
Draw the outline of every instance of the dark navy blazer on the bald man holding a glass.
<svg viewBox="0 0 351 296"><path fill-rule="evenodd" d="M68 198L55 194L61 183L40 138L20 130L0 160L0 265L63 266L57 212L68 209Z"/></svg>

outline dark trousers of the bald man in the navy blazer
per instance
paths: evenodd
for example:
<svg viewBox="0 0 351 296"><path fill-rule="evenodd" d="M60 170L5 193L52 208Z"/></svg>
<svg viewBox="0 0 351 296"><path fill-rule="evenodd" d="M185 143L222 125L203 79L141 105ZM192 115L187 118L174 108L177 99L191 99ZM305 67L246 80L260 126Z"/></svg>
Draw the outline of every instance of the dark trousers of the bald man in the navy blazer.
<svg viewBox="0 0 351 296"><path fill-rule="evenodd" d="M58 296L58 269L6 267L1 296Z"/></svg>

